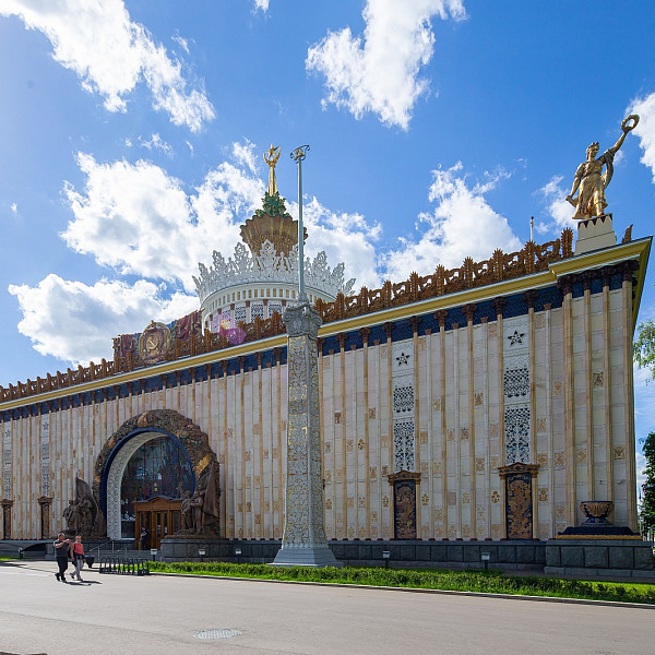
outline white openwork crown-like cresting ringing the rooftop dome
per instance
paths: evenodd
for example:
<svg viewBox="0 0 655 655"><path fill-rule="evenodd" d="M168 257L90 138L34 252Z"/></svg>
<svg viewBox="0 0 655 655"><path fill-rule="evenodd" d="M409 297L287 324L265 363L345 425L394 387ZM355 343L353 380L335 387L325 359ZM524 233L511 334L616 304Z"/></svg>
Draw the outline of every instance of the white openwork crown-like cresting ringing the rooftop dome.
<svg viewBox="0 0 655 655"><path fill-rule="evenodd" d="M258 283L298 282L298 245L294 245L288 255L277 252L275 246L265 240L259 254L251 254L243 243L237 243L234 259L225 258L214 250L213 266L199 264L200 276L193 276L195 290L201 303L212 294L235 285ZM305 260L305 279L307 286L323 291L327 296L348 295L355 285L355 278L344 278L343 262L331 269L327 255L321 251L312 260Z"/></svg>

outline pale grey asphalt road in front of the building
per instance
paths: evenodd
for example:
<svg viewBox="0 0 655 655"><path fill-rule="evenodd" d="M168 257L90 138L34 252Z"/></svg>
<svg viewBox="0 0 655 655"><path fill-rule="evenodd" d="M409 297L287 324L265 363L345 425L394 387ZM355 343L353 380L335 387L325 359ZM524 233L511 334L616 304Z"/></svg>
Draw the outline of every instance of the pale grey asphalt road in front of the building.
<svg viewBox="0 0 655 655"><path fill-rule="evenodd" d="M0 562L0 654L655 653L652 609L56 570Z"/></svg>

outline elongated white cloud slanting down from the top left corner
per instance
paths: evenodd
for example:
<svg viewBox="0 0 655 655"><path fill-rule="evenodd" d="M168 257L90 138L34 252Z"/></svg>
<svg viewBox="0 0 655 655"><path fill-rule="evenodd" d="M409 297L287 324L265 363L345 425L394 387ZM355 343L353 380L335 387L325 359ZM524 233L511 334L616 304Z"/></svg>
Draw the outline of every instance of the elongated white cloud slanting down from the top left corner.
<svg viewBox="0 0 655 655"><path fill-rule="evenodd" d="M153 107L175 124L196 132L214 118L204 91L188 87L182 63L130 20L122 0L4 0L0 15L16 15L45 34L53 59L74 71L86 91L100 94L109 111L126 111L126 95L143 81Z"/></svg>

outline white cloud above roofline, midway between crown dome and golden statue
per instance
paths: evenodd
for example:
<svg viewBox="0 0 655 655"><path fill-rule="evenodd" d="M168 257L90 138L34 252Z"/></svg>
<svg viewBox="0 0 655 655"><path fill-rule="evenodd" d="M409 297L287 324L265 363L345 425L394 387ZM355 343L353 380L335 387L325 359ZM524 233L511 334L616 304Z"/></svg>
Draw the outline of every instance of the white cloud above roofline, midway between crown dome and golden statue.
<svg viewBox="0 0 655 655"><path fill-rule="evenodd" d="M431 214L421 214L419 224L427 226L418 241L401 239L401 248L381 257L385 277L405 279L412 272L432 273L439 264L462 265L466 257L485 260L497 248L512 252L522 248L507 218L487 203L485 193L508 174L487 176L484 183L469 187L462 175L462 163L452 168L433 170L429 199L437 203Z"/></svg>

